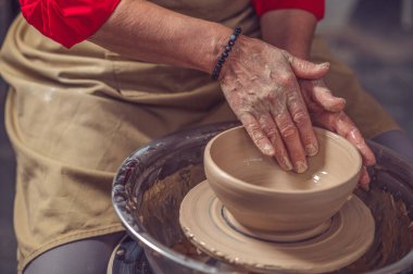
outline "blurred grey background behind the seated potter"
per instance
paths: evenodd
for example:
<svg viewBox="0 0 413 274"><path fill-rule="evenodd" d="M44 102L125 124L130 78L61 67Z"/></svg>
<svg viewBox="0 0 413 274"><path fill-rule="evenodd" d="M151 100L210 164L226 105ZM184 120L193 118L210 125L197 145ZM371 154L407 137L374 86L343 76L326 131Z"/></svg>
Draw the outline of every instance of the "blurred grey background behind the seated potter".
<svg viewBox="0 0 413 274"><path fill-rule="evenodd" d="M317 28L331 51L352 67L373 95L413 138L413 0L326 0ZM0 0L0 45L18 12ZM4 132L7 85L0 78L0 273L16 273L13 234L15 159Z"/></svg>

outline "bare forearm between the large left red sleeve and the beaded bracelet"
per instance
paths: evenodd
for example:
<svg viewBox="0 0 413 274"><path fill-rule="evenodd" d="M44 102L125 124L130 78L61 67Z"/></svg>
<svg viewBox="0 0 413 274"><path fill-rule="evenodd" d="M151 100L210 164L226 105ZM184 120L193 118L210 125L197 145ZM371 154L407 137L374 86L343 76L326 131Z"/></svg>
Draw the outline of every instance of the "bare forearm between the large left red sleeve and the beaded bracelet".
<svg viewBox="0 0 413 274"><path fill-rule="evenodd" d="M211 73L231 29L143 0L122 0L89 38L133 59Z"/></svg>

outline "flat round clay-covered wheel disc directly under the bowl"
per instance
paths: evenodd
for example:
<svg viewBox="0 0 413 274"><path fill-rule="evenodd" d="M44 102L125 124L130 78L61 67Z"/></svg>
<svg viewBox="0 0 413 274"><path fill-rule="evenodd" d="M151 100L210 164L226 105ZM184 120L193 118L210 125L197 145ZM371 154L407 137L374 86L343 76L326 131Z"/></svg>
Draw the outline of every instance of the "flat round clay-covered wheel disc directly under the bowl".
<svg viewBox="0 0 413 274"><path fill-rule="evenodd" d="M203 252L261 273L323 273L341 269L359 259L374 238L373 216L355 196L326 229L299 241L280 242L256 236L240 229L229 214L204 180L184 198L179 222L186 236Z"/></svg>

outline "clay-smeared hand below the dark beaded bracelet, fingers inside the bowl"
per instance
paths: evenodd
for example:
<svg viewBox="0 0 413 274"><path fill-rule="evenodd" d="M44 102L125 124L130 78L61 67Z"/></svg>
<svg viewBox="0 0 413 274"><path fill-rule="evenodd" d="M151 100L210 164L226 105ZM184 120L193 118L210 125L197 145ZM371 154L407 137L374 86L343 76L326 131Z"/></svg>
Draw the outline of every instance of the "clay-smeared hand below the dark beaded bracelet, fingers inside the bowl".
<svg viewBox="0 0 413 274"><path fill-rule="evenodd" d="M318 150L297 78L320 78L328 67L246 37L223 66L220 82L230 108L256 147L286 171L304 172L306 155Z"/></svg>

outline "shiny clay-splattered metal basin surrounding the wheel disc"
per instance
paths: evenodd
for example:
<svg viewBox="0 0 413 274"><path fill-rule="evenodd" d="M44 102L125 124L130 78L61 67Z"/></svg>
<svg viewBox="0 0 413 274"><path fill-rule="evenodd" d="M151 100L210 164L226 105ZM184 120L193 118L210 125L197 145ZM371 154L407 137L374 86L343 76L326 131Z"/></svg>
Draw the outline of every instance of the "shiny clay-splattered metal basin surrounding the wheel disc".
<svg viewBox="0 0 413 274"><path fill-rule="evenodd" d="M245 273L246 269L199 252L179 226L179 205L187 192L204 180L202 157L208 140L236 124L218 124L154 140L121 166L113 203L132 245L145 250L130 272ZM371 144L377 157L374 187L356 195L372 210L376 235L367 252L336 273L409 273L413 270L413 169L391 151ZM145 267L142 266L145 265ZM124 272L125 273L125 272Z"/></svg>

